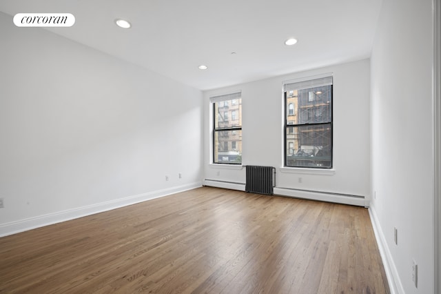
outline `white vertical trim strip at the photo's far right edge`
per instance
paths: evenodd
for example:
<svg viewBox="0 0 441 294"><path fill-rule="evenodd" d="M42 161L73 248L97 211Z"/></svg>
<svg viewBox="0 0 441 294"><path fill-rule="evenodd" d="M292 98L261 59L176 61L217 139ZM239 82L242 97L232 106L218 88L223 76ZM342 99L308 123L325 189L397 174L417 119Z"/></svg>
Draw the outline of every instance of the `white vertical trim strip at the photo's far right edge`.
<svg viewBox="0 0 441 294"><path fill-rule="evenodd" d="M441 4L433 0L433 159L435 293L441 293Z"/></svg>

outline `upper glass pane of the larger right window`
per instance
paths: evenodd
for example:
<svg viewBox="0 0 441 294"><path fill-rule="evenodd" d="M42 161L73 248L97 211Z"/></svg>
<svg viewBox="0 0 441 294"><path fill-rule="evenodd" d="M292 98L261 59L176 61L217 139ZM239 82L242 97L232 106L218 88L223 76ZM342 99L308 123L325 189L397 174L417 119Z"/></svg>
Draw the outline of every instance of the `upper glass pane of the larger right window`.
<svg viewBox="0 0 441 294"><path fill-rule="evenodd" d="M287 124L331 122L331 96L332 86L320 86L287 92ZM290 110L291 107L294 107L293 112ZM293 117L291 113L297 115Z"/></svg>

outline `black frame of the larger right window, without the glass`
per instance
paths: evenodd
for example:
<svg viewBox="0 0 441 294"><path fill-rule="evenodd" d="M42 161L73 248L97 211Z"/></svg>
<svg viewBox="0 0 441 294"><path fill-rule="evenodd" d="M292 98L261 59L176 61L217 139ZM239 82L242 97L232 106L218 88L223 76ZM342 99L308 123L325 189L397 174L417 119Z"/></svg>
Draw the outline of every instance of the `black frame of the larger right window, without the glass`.
<svg viewBox="0 0 441 294"><path fill-rule="evenodd" d="M334 168L334 79L332 79L332 75L325 75L324 77L330 77L331 78L331 84L328 85L331 87L330 91L331 91L331 97L330 97L330 121L329 122L316 122L316 123L306 123L306 124L288 124L288 117L289 117L289 104L287 103L287 99L289 98L289 91L285 89L285 85L290 84L290 83L285 83L284 84L284 90L283 90L283 109L284 111L284 117L283 117L283 167L284 168L301 168L301 169L305 169L305 168L313 168L313 169L317 169L317 170L332 170ZM309 79L302 79L302 81L308 82L308 81L314 81L314 77L310 77ZM310 88L315 88L316 86L311 86ZM303 89L307 89L307 88L303 88ZM300 90L300 89L297 89ZM309 94L308 94L309 95ZM309 97L308 97L308 101L309 101ZM309 101L311 102L311 101ZM294 109L294 112L296 112L296 109ZM330 136L330 165L329 166L289 166L288 165L288 155L289 155L289 150L288 150L288 146L289 146L289 142L287 141L287 135L288 135L288 128L293 128L293 133L294 133L294 128L300 128L300 127L304 127L304 126L326 126L329 125L330 126L330 130L329 130L329 136Z"/></svg>

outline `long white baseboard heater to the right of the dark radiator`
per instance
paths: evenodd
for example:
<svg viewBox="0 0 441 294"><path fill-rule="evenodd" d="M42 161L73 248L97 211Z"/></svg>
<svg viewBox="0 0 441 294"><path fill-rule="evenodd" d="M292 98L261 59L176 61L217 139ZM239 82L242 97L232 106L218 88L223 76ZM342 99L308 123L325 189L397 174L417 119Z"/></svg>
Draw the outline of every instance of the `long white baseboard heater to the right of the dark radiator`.
<svg viewBox="0 0 441 294"><path fill-rule="evenodd" d="M345 195L338 195L335 193L320 193L313 191L293 190L287 188L274 188L274 195L318 200L324 202L334 202L340 204L349 204L356 206L367 206L366 204L369 203L365 200L365 198L362 197L350 197Z"/></svg>

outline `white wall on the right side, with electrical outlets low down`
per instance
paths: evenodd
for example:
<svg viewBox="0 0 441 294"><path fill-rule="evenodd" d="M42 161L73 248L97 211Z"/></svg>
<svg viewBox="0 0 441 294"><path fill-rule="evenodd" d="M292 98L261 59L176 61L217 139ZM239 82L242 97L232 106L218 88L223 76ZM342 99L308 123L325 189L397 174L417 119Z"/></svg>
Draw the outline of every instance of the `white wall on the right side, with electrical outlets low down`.
<svg viewBox="0 0 441 294"><path fill-rule="evenodd" d="M371 56L371 213L391 286L407 294L434 291L431 5L384 0Z"/></svg>

